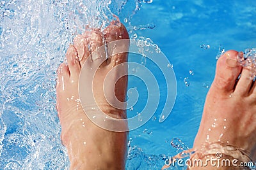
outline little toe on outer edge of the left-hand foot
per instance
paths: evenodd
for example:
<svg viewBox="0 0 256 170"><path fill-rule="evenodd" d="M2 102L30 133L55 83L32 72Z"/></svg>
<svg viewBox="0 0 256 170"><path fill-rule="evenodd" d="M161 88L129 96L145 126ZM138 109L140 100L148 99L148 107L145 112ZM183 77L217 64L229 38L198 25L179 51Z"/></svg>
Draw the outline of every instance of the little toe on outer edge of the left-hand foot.
<svg viewBox="0 0 256 170"><path fill-rule="evenodd" d="M56 82L57 92L59 90L64 90L65 81L68 80L69 76L70 76L70 72L67 64L64 64L64 63L60 64L57 70L57 82Z"/></svg>

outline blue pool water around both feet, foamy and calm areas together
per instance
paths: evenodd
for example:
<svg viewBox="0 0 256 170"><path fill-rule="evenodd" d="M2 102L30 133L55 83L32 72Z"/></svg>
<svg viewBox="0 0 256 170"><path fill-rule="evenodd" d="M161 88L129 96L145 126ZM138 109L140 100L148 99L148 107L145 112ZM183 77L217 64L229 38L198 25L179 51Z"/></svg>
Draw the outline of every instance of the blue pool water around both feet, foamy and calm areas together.
<svg viewBox="0 0 256 170"><path fill-rule="evenodd" d="M131 38L137 34L152 39L172 63L177 78L170 117L158 122L166 97L163 87L155 115L129 133L127 169L160 169L164 157L182 150L172 147L173 138L179 138L183 148L191 148L214 78L216 56L223 50L256 46L252 0L107 3L0 1L0 169L68 169L55 108L56 69L84 23L108 25L97 10L110 19L111 12L118 15ZM164 83L161 76L157 80ZM132 115L143 108L147 93L136 79L130 78L129 87L137 87L142 97L127 111Z"/></svg>

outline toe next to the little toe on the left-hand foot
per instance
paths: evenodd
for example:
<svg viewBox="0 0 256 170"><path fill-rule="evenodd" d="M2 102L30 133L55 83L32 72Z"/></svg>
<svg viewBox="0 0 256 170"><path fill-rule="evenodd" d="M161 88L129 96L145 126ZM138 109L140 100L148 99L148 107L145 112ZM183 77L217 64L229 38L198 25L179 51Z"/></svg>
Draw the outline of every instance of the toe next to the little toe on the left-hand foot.
<svg viewBox="0 0 256 170"><path fill-rule="evenodd" d="M77 56L76 48L74 46L70 46L66 53L68 69L70 71L70 76L77 76L80 73L80 63L79 58Z"/></svg>

